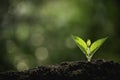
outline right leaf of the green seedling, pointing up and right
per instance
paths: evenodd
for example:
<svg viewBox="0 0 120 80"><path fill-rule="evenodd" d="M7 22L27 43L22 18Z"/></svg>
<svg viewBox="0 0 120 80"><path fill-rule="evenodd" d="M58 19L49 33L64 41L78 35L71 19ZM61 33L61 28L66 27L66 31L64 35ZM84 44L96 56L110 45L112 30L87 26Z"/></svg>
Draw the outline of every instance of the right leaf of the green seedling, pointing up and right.
<svg viewBox="0 0 120 80"><path fill-rule="evenodd" d="M90 55L93 55L97 51L97 49L99 49L99 47L105 42L107 38L108 37L105 37L95 41L90 47Z"/></svg>

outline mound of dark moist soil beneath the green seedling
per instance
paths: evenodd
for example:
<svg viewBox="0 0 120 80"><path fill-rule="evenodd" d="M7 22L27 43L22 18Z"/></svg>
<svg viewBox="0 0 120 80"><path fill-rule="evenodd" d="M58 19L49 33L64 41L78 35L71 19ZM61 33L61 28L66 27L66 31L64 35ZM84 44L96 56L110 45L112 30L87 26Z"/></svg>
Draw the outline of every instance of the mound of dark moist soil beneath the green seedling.
<svg viewBox="0 0 120 80"><path fill-rule="evenodd" d="M0 80L120 80L120 64L113 61L73 61L21 72L1 72Z"/></svg>

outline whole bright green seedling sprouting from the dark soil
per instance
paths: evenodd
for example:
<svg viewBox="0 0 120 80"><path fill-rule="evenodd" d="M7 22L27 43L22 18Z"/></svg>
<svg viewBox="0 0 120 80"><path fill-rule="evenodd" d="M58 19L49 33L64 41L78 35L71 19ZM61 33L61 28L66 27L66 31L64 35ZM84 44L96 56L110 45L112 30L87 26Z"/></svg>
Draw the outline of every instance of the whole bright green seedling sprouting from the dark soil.
<svg viewBox="0 0 120 80"><path fill-rule="evenodd" d="M77 46L81 49L81 51L86 55L87 60L90 62L91 58L93 57L94 53L100 48L100 46L105 42L107 37L98 39L91 44L91 40L88 39L85 42L82 38L78 36L73 36L73 40L77 44Z"/></svg>

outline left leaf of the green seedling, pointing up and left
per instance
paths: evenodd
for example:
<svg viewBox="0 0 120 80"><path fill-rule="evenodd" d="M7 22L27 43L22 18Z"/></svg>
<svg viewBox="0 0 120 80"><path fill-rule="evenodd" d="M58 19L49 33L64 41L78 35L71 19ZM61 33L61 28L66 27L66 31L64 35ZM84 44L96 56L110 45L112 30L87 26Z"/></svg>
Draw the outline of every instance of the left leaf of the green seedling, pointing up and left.
<svg viewBox="0 0 120 80"><path fill-rule="evenodd" d="M87 55L87 44L85 43L85 41L78 36L72 35L72 37L73 37L73 40L75 41L75 43L77 44L77 46L82 50L82 52L84 54Z"/></svg>

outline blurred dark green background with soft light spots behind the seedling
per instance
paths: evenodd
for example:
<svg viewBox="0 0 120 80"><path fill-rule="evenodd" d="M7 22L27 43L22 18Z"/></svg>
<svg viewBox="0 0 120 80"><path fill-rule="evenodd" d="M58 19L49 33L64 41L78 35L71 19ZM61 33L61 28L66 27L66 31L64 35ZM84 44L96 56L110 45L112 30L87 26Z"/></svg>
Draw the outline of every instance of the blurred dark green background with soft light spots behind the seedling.
<svg viewBox="0 0 120 80"><path fill-rule="evenodd" d="M93 56L120 62L119 0L0 0L0 71L86 60L71 34L92 42Z"/></svg>

